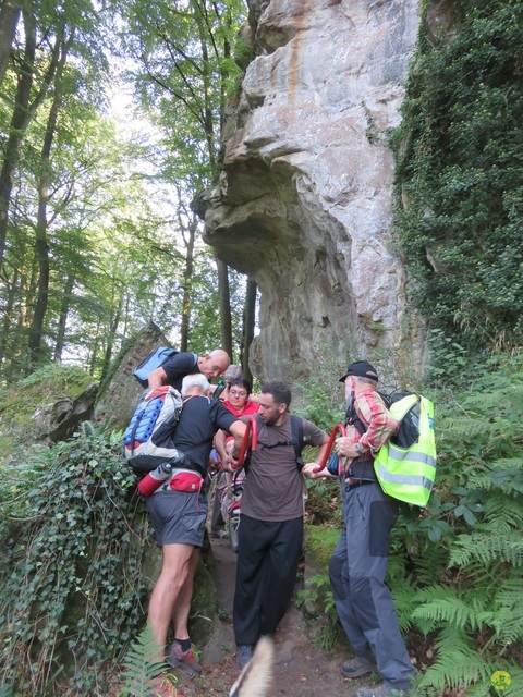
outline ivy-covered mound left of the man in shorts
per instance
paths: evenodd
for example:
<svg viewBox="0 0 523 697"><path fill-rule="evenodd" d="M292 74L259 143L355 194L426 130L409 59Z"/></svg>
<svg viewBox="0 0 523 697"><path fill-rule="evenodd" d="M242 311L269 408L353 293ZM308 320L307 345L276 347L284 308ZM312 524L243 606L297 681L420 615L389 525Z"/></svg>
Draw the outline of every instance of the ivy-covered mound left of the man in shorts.
<svg viewBox="0 0 523 697"><path fill-rule="evenodd" d="M66 695L107 694L144 616L146 528L136 527L133 484L96 433L3 466L0 675L17 695L57 689L56 681Z"/></svg>

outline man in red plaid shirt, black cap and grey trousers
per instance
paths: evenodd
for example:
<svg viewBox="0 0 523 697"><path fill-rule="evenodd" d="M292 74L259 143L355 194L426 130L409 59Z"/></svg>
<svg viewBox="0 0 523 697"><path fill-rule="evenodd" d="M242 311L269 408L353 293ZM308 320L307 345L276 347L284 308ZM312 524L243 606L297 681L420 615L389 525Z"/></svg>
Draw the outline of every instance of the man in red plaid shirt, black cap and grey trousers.
<svg viewBox="0 0 523 697"><path fill-rule="evenodd" d="M346 436L336 441L343 528L329 575L338 615L354 650L342 672L345 677L360 677L376 670L384 677L380 685L361 687L357 697L406 695L415 671L385 583L398 501L384 493L374 472L376 454L399 424L376 391L378 374L369 363L351 364L340 382L350 405ZM331 476L327 468L314 469L314 464L307 465L303 474Z"/></svg>

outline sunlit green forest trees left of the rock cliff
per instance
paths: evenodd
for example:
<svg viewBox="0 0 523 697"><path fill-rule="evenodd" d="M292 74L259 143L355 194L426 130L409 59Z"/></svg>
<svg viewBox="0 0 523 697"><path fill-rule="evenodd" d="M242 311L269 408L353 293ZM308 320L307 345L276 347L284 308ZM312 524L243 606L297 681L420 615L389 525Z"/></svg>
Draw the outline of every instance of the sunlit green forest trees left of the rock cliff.
<svg viewBox="0 0 523 697"><path fill-rule="evenodd" d="M244 16L239 0L0 3L0 380L63 359L100 377L149 319L241 355L245 283L217 272L190 203L219 170Z"/></svg>

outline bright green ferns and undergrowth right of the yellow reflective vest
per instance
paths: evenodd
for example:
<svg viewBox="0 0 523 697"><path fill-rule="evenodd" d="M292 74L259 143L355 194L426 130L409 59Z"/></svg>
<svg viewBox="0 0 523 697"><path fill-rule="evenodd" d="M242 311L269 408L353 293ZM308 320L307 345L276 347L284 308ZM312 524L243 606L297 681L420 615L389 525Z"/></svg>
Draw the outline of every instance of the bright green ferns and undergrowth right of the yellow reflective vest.
<svg viewBox="0 0 523 697"><path fill-rule="evenodd" d="M422 686L487 695L490 675L506 670L522 689L522 365L498 356L435 401L437 490L419 515L403 511L389 568L402 627L435 637ZM402 561L411 594L400 586Z"/></svg>

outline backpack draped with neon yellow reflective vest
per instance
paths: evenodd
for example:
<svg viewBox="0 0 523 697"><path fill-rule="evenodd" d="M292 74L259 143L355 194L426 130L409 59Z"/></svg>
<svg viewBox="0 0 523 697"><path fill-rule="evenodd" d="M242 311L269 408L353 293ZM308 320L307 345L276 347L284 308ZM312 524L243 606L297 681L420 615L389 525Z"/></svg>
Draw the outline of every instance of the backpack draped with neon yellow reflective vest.
<svg viewBox="0 0 523 697"><path fill-rule="evenodd" d="M398 396L388 409L400 428L378 451L374 470L385 493L426 506L436 477L434 404L421 394Z"/></svg>

